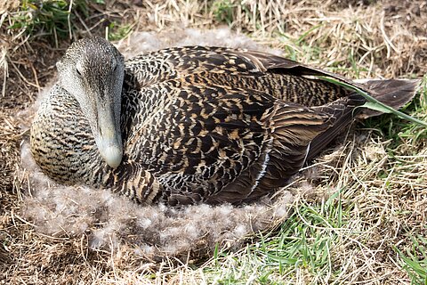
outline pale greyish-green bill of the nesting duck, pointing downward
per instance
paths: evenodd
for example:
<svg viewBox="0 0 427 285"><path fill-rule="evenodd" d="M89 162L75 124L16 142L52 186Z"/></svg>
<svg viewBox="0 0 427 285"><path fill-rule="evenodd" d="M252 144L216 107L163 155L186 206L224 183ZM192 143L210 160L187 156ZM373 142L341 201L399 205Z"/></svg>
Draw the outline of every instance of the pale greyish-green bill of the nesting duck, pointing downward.
<svg viewBox="0 0 427 285"><path fill-rule="evenodd" d="M109 167L116 168L123 158L123 143L120 128L113 118L113 111L98 111L99 137L96 140L102 159Z"/></svg>

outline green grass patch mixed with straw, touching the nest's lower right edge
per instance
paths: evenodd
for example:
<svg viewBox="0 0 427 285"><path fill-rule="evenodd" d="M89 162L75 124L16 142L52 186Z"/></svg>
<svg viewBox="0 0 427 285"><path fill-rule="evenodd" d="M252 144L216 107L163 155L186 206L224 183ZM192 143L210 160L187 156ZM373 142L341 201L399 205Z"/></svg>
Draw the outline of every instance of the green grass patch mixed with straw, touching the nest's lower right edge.
<svg viewBox="0 0 427 285"><path fill-rule="evenodd" d="M278 231L260 232L245 253L220 252L203 268L210 280L223 283L256 281L261 284L294 283L305 278L327 283L343 270L334 265L332 252L343 239L350 239L350 211L343 207L341 191L320 204L300 200L294 213Z"/></svg>

